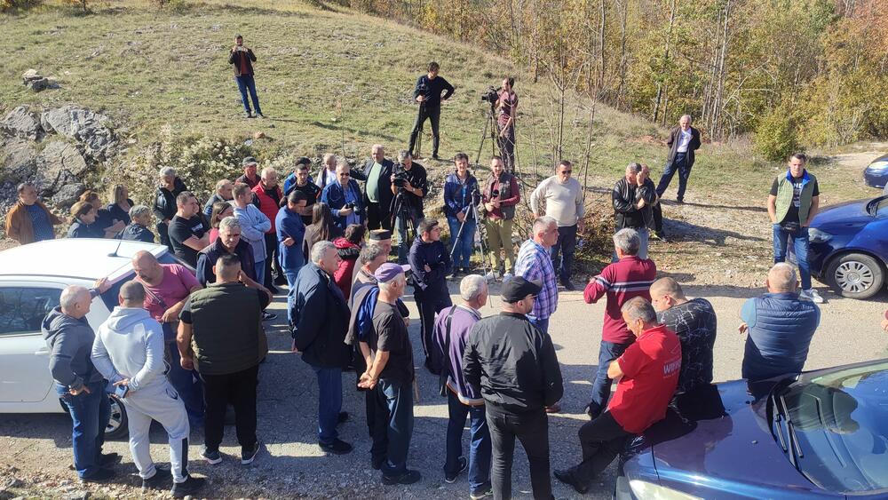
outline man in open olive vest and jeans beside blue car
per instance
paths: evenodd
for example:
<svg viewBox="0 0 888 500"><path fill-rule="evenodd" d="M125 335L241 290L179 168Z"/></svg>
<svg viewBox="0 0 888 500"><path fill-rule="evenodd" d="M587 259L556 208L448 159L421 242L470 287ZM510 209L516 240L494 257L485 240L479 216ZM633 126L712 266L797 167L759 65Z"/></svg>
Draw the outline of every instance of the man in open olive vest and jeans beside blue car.
<svg viewBox="0 0 888 500"><path fill-rule="evenodd" d="M792 243L796 252L798 274L802 276L799 296L823 302L817 290L811 288L811 266L808 265L808 227L820 207L820 188L817 179L805 170L807 156L796 153L789 157L789 170L777 176L768 196L768 216L774 234L774 264L786 260L786 250Z"/></svg>

